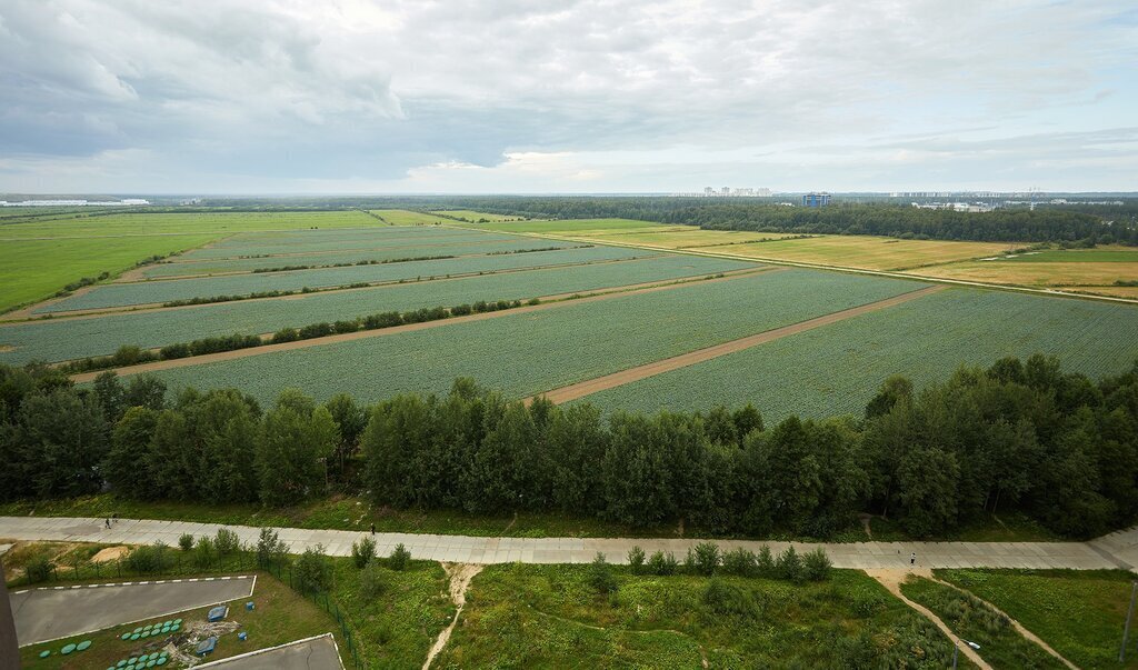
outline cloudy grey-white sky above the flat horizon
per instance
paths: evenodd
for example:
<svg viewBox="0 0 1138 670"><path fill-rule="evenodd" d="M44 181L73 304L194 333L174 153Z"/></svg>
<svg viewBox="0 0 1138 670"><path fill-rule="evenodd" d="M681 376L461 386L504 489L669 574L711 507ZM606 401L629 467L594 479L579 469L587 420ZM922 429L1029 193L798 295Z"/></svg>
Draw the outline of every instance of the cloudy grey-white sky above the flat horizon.
<svg viewBox="0 0 1138 670"><path fill-rule="evenodd" d="M0 192L1138 191L1133 0L0 0Z"/></svg>

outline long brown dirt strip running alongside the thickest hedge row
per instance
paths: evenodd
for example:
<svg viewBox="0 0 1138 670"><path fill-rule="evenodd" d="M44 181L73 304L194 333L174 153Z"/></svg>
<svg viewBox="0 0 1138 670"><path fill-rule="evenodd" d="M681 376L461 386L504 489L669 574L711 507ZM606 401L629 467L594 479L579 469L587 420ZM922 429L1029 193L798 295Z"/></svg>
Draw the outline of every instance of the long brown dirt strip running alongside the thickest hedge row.
<svg viewBox="0 0 1138 670"><path fill-rule="evenodd" d="M668 283L661 284L659 281L650 282L646 288L636 288L644 284L632 284L626 287L615 287L611 289L600 289L597 291L588 291L589 295L586 298L578 298L575 300L566 300L563 298L569 297L568 295L550 296L546 299L553 300L555 303L542 303L539 305L526 305L523 307L517 307L514 309L503 309L501 312L484 312L481 314L471 314L469 316L455 316L452 319L442 319L439 321L427 321L423 323L409 323L406 325L396 325L394 328L384 328L378 330L363 330L357 332L349 332L343 334L329 336L327 338L312 338L307 340L298 340L294 342L282 342L279 345L263 345L261 347L250 347L248 349L237 349L233 351L222 351L220 354L206 354L204 356L190 356L187 358L174 358L172 361L156 361L154 363L143 363L141 365L131 365L127 367L115 369L119 375L127 374L141 374L143 372L156 372L158 370L171 370L174 367L185 367L188 365L201 365L205 363L217 363L220 361L232 361L234 358L245 358L246 356L257 356L259 354L271 354L273 351L291 351L294 349L304 349L307 347L318 347L322 345L332 345L337 342L347 342L352 340L362 340L365 338L376 338L389 334L397 334L401 332L413 332L417 330L427 330L429 328L439 328L443 325L450 325L455 323L469 323L471 321L485 321L487 319L496 319L498 316L509 316L511 314L528 314L530 312L539 312L542 309L552 309L555 307L561 307L564 305L578 305L580 303L594 303L596 300L608 300L609 298L616 298L618 296L635 296L640 293L651 293L655 291L666 291L669 289L679 288L687 286L692 282L720 282L731 281L733 279L739 279L742 276L750 276L752 274L761 273L774 273L782 272L783 268L780 267L757 267L737 270L735 272L719 273L723 276L715 276L714 279L703 279L708 275L698 275L694 278L685 278L675 281L668 281ZM264 337L264 336L263 336ZM89 381L94 381L94 378L106 372L105 370L99 370L94 372L83 372L80 374L71 375L72 381L76 383L84 383Z"/></svg>

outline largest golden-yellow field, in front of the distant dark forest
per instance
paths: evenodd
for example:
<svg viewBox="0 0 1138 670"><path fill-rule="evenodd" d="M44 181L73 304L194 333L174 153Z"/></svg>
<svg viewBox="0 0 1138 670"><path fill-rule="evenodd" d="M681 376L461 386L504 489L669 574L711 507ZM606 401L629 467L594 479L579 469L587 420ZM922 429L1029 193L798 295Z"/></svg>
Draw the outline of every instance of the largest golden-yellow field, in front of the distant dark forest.
<svg viewBox="0 0 1138 670"><path fill-rule="evenodd" d="M706 231L718 232L718 231ZM775 235L776 233L754 233ZM701 247L701 251L731 254L747 258L770 258L817 263L861 270L914 270L923 266L1004 254L1016 245L1007 242L955 242L942 240L898 240L871 235L824 235L770 242Z"/></svg>

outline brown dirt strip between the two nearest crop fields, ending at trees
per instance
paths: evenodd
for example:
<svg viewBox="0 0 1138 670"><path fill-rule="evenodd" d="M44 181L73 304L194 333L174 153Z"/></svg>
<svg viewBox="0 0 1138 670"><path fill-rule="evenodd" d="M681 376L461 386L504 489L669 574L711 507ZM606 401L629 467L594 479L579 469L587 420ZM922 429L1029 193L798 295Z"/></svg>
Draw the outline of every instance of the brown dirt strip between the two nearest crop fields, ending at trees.
<svg viewBox="0 0 1138 670"><path fill-rule="evenodd" d="M618 386L624 386L626 383L632 383L634 381L640 381L642 379L654 377L663 372L670 372L673 370L678 370L681 367L686 367L688 365L694 365L696 363L710 361L711 358L718 358L719 356L724 356L726 354L733 354L735 351L749 349L757 345L769 342L772 340L777 340L786 336L792 336L794 333L803 332L815 328L820 328L823 325L828 325L831 323L836 323L839 321L843 321L846 319L850 319L859 314L876 312L879 309L887 309L894 305L900 305L901 303L908 303L909 300L915 300L917 298L927 296L929 293L934 293L937 291L945 290L946 288L947 287L938 286L938 287L929 287L926 289L920 289L893 298L887 298L884 300L879 300L876 303L869 303L868 305L851 307L850 309L842 309L841 312L834 312L833 314L826 314L825 316L818 316L817 319L802 321L793 325L785 325L783 328L776 328L774 330L768 330L765 332L760 332L758 334L748 336L742 339L732 340L729 342L724 342L721 345L716 345L714 347L708 347L706 349L688 351L686 354L681 354L679 356L673 356L671 358L655 361L653 363L648 363L645 365L640 365L637 367L629 367L628 370L622 370L620 372L605 374L604 377L599 377L596 379L577 382L575 384L561 387L559 389L553 389L551 391L539 395L545 396L547 399L559 404L567 403L569 400L576 400L577 398L595 394L597 391L603 391ZM526 398L526 402L529 403L530 400L534 399L534 397Z"/></svg>

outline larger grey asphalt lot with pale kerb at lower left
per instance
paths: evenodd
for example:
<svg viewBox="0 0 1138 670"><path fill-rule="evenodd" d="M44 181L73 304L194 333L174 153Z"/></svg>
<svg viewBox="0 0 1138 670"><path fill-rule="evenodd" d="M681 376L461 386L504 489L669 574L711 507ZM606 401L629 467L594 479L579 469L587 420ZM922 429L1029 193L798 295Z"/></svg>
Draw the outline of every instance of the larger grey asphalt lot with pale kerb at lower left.
<svg viewBox="0 0 1138 670"><path fill-rule="evenodd" d="M256 578L214 577L14 592L19 646L249 597Z"/></svg>

